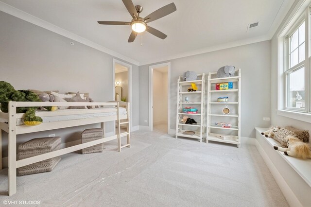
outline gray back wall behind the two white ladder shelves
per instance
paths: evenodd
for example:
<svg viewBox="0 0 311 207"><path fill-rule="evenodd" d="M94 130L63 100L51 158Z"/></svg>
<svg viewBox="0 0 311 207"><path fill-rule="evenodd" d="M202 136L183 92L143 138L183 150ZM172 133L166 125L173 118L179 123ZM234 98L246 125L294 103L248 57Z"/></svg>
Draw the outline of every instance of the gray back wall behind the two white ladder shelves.
<svg viewBox="0 0 311 207"><path fill-rule="evenodd" d="M173 59L171 62L171 129L176 125L177 79L183 72L197 73L217 71L225 65L242 69L242 137L255 138L255 127L267 127L270 121L270 67L271 42L229 48L221 51ZM159 63L155 63L159 64ZM151 64L151 65L155 65ZM139 125L149 126L149 66L139 66ZM207 82L206 82L207 83Z"/></svg>

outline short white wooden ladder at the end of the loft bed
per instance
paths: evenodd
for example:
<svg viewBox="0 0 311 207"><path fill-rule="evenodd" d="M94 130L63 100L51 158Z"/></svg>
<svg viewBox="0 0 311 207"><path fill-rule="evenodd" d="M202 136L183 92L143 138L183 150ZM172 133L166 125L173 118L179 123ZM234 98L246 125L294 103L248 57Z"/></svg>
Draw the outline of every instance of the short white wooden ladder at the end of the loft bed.
<svg viewBox="0 0 311 207"><path fill-rule="evenodd" d="M121 152L121 149L124 147L131 147L131 137L130 137L130 103L126 105L127 111L127 119L124 122L120 121L120 113L119 113L119 103L118 103L118 150ZM126 124L126 132L121 133L121 124ZM121 146L121 138L126 137L126 144Z"/></svg>

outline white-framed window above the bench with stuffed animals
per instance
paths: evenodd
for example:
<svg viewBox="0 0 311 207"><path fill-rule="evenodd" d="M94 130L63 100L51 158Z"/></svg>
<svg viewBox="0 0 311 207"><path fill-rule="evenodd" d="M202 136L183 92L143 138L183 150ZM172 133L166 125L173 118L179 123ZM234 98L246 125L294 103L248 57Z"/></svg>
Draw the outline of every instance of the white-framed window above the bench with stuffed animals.
<svg viewBox="0 0 311 207"><path fill-rule="evenodd" d="M311 122L311 90L308 88L311 42L307 38L311 13L308 5L300 8L278 35L278 114L286 116L287 113L288 117L304 114Z"/></svg>

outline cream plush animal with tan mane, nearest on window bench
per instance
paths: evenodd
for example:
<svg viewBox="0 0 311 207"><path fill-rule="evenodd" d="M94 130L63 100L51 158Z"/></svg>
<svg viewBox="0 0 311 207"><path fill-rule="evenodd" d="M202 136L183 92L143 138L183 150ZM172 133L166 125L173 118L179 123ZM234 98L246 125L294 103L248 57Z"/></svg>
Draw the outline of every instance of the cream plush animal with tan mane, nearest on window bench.
<svg viewBox="0 0 311 207"><path fill-rule="evenodd" d="M301 139L295 137L286 137L288 148L274 146L275 150L284 152L285 155L294 156L301 159L311 159L311 148L309 143L302 142Z"/></svg>

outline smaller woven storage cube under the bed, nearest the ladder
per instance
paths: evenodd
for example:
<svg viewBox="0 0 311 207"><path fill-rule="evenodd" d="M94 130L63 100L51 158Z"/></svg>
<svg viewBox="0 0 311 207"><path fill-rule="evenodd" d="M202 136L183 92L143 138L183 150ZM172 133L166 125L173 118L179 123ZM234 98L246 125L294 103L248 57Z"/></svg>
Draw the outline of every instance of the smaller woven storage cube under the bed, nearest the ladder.
<svg viewBox="0 0 311 207"><path fill-rule="evenodd" d="M86 129L81 134L82 143L94 141L96 139L103 138L103 136L104 136L104 130L101 128ZM101 153L101 152L103 152L103 150L104 150L104 143L84 148L84 149L82 149L82 154Z"/></svg>

